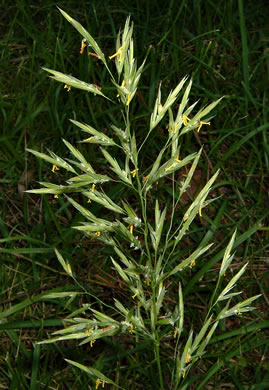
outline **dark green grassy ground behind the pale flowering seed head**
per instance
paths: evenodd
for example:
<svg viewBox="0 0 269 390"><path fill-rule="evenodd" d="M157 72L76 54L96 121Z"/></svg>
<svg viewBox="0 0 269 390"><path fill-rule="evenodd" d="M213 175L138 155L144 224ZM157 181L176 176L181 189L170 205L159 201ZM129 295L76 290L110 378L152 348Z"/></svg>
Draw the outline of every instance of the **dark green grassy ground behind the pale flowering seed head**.
<svg viewBox="0 0 269 390"><path fill-rule="evenodd" d="M235 227L237 252L233 271L249 261L238 288L244 298L258 293L257 310L243 318L226 321L211 343L205 363L196 368L190 388L268 388L268 7L263 1L5 1L1 6L0 109L0 383L8 389L88 389L93 381L63 358L94 365L128 389L156 389L155 368L148 345L130 352L130 340L119 345L108 339L94 348L75 343L35 346L62 326L61 319L85 298L44 302L48 291L74 290L53 248L70 259L78 280L105 300L128 292L111 273L109 251L70 229L80 218L62 199L25 195L36 181L56 180L50 167L25 153L25 148L60 156L68 153L61 139L75 143L79 134L68 118L105 129L118 108L86 93L67 93L50 81L41 67L56 69L104 86L107 74L100 64L79 55L80 36L57 11L56 5L80 21L96 37L106 55L114 52L114 39L131 14L135 23L138 63L152 46L133 106L133 125L139 139L147 129L159 81L167 92L186 74L193 77L192 99L208 103L223 95L212 121L199 135L189 135L182 154L204 154L192 191L221 168L215 186L222 198L212 204L189 233L186 248L201 240L215 245L188 275L186 312L190 324L199 327L199 316L214 286L222 248ZM166 130L159 126L151 139L145 164L154 161ZM81 147L99 164L95 149ZM114 199L121 193L113 188ZM169 186L160 186L160 199L171 199ZM96 206L96 212L102 210ZM206 234L206 236L205 236ZM203 238L205 236L205 238ZM228 275L229 277L229 275ZM170 298L174 298L171 288ZM266 295L267 294L267 295ZM84 302L85 303L85 302ZM246 326L246 324L248 324ZM262 329L258 333L259 329ZM139 353L138 353L139 352ZM167 362L172 347L167 345ZM117 356L117 359L115 359ZM139 357L139 360L138 360ZM117 363L118 362L118 363ZM215 375L216 369L221 370ZM169 378L169 365L167 377ZM196 382L195 382L196 381ZM193 386L193 387L192 387ZM267 387L266 387L267 386Z"/></svg>

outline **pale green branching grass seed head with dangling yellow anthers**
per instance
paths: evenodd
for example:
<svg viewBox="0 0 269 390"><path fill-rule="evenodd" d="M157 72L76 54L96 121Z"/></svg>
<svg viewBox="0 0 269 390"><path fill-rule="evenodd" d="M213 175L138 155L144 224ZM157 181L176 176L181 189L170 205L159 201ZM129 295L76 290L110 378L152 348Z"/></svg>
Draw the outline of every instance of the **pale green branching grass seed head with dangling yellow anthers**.
<svg viewBox="0 0 269 390"><path fill-rule="evenodd" d="M240 294L233 289L245 271L246 265L224 288L222 286L223 276L233 259L231 251L235 239L234 233L223 256L218 281L208 305L208 313L205 315L200 331L194 333L193 329L186 329L184 291L182 291L183 286L179 275L182 271L193 268L203 254L209 251L212 244L198 245L195 250L188 253L186 258L178 259L177 264L174 264L175 261L169 261L175 256L176 248L184 243L184 236L193 220L197 216L202 217L205 213L204 209L214 200L208 200L208 195L217 179L218 171L208 180L191 204L186 209L183 207L182 197L191 183L201 150L181 156L180 145L184 134L198 132L203 126L210 126L212 119L210 113L220 99L194 113L198 102L192 104L189 102L191 80L188 81L188 78L184 77L165 99L162 99L160 84L148 129L145 130L144 139L139 145L135 128L132 126L130 106L135 99L145 61L140 66L136 63L132 38L133 24L130 18L127 18L123 31L118 34L115 52L107 58L93 37L66 12L60 11L82 35L80 53L83 54L87 49L90 56L97 57L107 69L115 89L114 96L106 96L101 87L96 84L86 83L59 71L44 69L54 80L63 83L69 93L72 93L73 88L78 88L91 92L94 96L98 95L97 98L106 99L107 104L113 105L117 102L121 105L121 127L111 124L109 133L104 134L91 124L71 120L77 128L87 133L83 143L99 146L100 156L103 156L103 161L108 164L109 173L104 174L101 167L94 168L92 162L87 161L77 148L64 140L72 156L70 160L64 160L51 151L49 155L34 150L29 151L50 163L52 172L64 169L69 172L70 177L62 185L41 182L42 188L28 192L54 194L55 198L66 197L85 218L85 221L75 229L111 248L113 253L111 266L129 290L130 299L128 303L114 299L113 315L111 312L108 314L96 310L94 304L86 304L68 316L65 320L66 328L54 332L54 337L39 344L72 339L80 340L80 345L90 343L93 346L98 339L104 337L118 337L120 342L121 335L126 334L129 338L133 337L137 345L144 341L152 345L160 389L168 387L185 389L190 369L198 359L203 357L219 321L252 310L251 303L258 298L254 296L232 304L232 299ZM143 166L140 160L141 151L149 148L147 140L160 123L167 128L166 142L161 145L152 166ZM117 149L117 157L114 157L115 153L111 152L112 148ZM187 168L188 173L185 174L183 181L177 183L175 173L180 172L183 167ZM171 182L176 183L178 191L173 192L171 205L162 205L155 195L154 188L158 182L167 179L172 179ZM106 192L107 183L113 185L115 181L126 187L126 194L130 197L122 199L118 204ZM88 207L85 207L85 202L82 205L82 202L77 200L77 196L76 200L73 199L72 193L79 193L85 197ZM137 199L136 207L131 206L133 198ZM108 215L111 218L106 219L93 214L91 202L97 202L109 210ZM154 204L153 213L149 204ZM180 207L184 210L181 219L176 213L176 209ZM67 275L79 284L68 260L65 260L58 250L55 250L55 253ZM178 298L173 310L168 310L165 297L169 295L169 282L172 279L178 286ZM82 293L86 296L91 295L83 287ZM63 298L69 296L70 299L74 299L78 293L70 291L61 294ZM59 297L59 294L50 294L50 298ZM99 298L98 302L100 302ZM103 307L106 306L104 302ZM165 343L174 346L173 368L170 370L169 381L164 379L163 373ZM125 388L124 383L121 386L116 384L115 380L93 367L66 360L92 376L96 388L104 387L106 383Z"/></svg>

